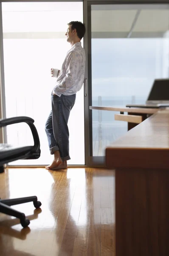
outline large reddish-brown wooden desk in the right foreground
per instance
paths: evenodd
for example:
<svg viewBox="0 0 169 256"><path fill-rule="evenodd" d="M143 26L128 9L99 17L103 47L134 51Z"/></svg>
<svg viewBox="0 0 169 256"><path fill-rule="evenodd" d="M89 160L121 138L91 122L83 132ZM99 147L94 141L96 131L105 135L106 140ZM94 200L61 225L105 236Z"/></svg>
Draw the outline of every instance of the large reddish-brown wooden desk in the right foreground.
<svg viewBox="0 0 169 256"><path fill-rule="evenodd" d="M106 148L115 168L116 256L169 255L169 110Z"/></svg>

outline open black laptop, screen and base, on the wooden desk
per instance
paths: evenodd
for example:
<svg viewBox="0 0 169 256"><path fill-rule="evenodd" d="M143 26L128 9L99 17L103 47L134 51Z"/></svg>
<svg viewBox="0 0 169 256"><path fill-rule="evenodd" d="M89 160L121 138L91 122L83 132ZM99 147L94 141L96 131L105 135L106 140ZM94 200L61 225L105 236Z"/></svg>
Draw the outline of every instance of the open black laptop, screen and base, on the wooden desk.
<svg viewBox="0 0 169 256"><path fill-rule="evenodd" d="M127 104L126 107L165 108L169 107L169 79L155 79L145 104Z"/></svg>

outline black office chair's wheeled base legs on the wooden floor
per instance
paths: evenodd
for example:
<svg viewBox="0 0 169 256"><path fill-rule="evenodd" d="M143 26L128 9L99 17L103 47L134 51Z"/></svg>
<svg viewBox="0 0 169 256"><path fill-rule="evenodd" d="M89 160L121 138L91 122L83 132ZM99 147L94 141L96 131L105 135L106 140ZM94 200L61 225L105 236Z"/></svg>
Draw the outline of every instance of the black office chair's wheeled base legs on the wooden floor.
<svg viewBox="0 0 169 256"><path fill-rule="evenodd" d="M5 199L5 200L0 199L0 212L19 218L21 225L23 227L28 227L28 225L30 224L30 221L25 217L25 214L23 212L18 212L17 210L12 209L10 207L11 205L24 204L28 202L33 202L35 208L39 208L42 205L40 201L37 201L37 196Z"/></svg>

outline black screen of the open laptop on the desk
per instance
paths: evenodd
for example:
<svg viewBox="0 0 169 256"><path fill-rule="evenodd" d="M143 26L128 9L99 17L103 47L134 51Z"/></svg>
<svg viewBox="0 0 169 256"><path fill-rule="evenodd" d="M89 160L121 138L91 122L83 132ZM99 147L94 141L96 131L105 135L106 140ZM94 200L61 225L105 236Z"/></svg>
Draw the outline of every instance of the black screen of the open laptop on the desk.
<svg viewBox="0 0 169 256"><path fill-rule="evenodd" d="M147 100L169 101L169 79L155 80Z"/></svg>

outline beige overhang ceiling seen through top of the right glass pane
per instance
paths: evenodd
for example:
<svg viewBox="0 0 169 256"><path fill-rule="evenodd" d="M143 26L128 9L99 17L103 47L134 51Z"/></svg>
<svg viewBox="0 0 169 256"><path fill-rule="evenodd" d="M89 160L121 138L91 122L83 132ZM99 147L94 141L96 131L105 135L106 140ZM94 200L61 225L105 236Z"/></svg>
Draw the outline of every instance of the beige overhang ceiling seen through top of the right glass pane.
<svg viewBox="0 0 169 256"><path fill-rule="evenodd" d="M169 9L91 11L93 38L161 37L168 30Z"/></svg>

